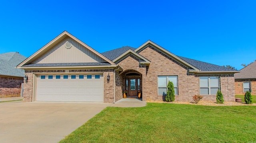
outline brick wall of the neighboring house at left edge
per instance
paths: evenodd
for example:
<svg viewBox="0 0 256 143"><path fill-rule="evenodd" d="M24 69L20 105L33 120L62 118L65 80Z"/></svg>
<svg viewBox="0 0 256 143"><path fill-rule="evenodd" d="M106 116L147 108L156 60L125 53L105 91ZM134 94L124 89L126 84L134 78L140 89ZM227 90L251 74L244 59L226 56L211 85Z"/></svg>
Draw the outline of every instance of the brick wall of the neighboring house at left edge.
<svg viewBox="0 0 256 143"><path fill-rule="evenodd" d="M23 78L0 76L0 98L20 96L20 87Z"/></svg>

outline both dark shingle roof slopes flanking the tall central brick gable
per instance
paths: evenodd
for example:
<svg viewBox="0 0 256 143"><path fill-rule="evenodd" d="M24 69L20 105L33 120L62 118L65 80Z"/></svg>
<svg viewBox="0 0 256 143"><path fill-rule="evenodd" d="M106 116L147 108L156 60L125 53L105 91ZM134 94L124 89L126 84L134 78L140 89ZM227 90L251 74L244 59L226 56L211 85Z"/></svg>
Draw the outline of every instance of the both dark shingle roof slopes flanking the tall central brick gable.
<svg viewBox="0 0 256 143"><path fill-rule="evenodd" d="M114 60L118 56L122 55L122 53L126 52L128 49L131 49L131 50L134 51L136 48L125 46L125 47L114 49L114 50L111 50L111 51L106 51L106 52L101 53L101 54L104 55L106 58L108 58L110 60ZM180 56L178 56L178 57L180 59L186 61L190 65L193 65L194 67L200 69L201 71L236 71L234 69L230 69L230 68L226 68L226 67L222 67L222 66L218 66L218 65L213 65L213 64L210 64L210 63L202 62L202 61L196 61L196 60L193 60L193 59L188 59L188 58L180 57Z"/></svg>

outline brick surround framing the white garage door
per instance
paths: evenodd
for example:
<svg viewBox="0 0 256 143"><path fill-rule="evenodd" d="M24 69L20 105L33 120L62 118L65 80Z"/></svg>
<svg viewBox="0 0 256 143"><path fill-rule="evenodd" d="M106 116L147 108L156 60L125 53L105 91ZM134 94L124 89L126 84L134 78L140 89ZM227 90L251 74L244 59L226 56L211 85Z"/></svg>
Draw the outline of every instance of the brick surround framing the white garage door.
<svg viewBox="0 0 256 143"><path fill-rule="evenodd" d="M68 73L79 74L81 72L86 73L99 73L103 72L104 76L104 103L113 103L114 101L114 70L113 69L99 69L99 70L69 70ZM65 70L38 70L38 71L25 71L28 75L28 82L23 85L23 102L32 102L33 101L33 75L42 74L42 73L64 73ZM110 82L107 82L107 76L110 75Z"/></svg>

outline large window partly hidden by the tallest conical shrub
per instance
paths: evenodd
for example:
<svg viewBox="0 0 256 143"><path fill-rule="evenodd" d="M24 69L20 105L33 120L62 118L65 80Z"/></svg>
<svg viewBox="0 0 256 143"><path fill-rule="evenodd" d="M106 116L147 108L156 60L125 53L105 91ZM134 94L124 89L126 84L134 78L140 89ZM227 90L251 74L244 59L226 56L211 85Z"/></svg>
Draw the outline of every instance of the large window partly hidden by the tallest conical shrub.
<svg viewBox="0 0 256 143"><path fill-rule="evenodd" d="M178 95L178 76L158 76L158 95L166 95L169 81L174 85L174 94Z"/></svg>

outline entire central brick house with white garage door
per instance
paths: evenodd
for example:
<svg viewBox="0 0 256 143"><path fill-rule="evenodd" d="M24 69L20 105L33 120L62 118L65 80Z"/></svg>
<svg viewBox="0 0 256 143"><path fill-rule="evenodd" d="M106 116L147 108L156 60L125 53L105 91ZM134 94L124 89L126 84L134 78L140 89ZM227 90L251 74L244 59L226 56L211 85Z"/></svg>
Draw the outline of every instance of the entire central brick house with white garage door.
<svg viewBox="0 0 256 143"><path fill-rule="evenodd" d="M152 41L137 49L122 47L98 53L64 31L17 66L24 69L24 102L84 101L112 103L137 96L164 100L168 81L174 83L176 101L216 101L221 90L225 101L235 101L234 73L222 66L178 57Z"/></svg>

